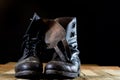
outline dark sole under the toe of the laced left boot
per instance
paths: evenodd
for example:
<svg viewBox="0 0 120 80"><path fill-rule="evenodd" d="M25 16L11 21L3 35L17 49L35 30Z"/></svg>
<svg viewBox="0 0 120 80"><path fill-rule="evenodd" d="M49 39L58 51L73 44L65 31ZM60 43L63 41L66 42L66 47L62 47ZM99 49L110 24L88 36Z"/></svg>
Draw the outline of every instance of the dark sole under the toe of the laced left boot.
<svg viewBox="0 0 120 80"><path fill-rule="evenodd" d="M41 77L42 73L36 71L20 71L15 73L16 78L24 78L24 79L31 79L31 78L38 78Z"/></svg>

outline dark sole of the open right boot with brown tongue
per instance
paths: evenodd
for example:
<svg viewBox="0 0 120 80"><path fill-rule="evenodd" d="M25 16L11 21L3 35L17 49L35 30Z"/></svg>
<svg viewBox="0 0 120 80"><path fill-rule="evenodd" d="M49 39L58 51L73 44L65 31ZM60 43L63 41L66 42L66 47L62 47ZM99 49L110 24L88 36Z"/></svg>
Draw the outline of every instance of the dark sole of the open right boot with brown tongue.
<svg viewBox="0 0 120 80"><path fill-rule="evenodd" d="M45 71L46 77L51 79L74 79L79 76L79 73L71 73L65 71L58 71L58 70L46 70Z"/></svg>

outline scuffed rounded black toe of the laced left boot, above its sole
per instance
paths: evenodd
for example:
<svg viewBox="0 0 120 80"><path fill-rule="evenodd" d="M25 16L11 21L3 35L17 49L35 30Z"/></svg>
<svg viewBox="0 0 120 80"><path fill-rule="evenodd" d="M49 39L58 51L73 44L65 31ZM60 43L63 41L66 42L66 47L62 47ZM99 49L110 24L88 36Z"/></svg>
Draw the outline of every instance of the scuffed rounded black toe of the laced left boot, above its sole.
<svg viewBox="0 0 120 80"><path fill-rule="evenodd" d="M42 66L42 64L40 63L38 58L31 56L24 60L19 61L15 66L16 67L15 72L25 71L25 70L42 71L41 66Z"/></svg>

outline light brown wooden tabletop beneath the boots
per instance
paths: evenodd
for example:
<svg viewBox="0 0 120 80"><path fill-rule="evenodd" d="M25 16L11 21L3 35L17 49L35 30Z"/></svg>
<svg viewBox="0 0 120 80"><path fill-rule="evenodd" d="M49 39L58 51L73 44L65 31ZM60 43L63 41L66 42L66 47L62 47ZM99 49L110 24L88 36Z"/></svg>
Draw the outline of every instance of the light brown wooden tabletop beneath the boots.
<svg viewBox="0 0 120 80"><path fill-rule="evenodd" d="M16 79L14 77L15 64L15 62L0 64L0 80L28 80ZM80 73L80 77L73 80L120 80L120 67L118 66L98 66L92 64L82 64Z"/></svg>

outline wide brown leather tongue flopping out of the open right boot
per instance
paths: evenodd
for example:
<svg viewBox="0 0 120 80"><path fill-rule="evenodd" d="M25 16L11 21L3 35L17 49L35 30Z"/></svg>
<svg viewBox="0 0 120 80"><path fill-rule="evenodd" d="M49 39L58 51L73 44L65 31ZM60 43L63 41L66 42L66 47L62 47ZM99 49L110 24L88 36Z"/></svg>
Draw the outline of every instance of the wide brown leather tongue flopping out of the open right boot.
<svg viewBox="0 0 120 80"><path fill-rule="evenodd" d="M45 33L45 43L48 48L54 48L59 41L65 39L66 33L64 28L56 21L50 21L48 27L49 29Z"/></svg>

